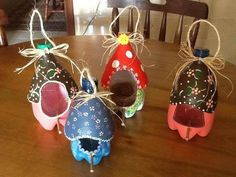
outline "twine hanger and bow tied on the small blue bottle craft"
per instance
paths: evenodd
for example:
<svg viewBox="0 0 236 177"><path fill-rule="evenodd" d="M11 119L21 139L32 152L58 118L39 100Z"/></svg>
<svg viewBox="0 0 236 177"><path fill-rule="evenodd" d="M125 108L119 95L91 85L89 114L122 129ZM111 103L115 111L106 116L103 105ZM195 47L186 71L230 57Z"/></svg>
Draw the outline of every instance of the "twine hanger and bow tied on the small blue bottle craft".
<svg viewBox="0 0 236 177"><path fill-rule="evenodd" d="M113 94L112 92L109 91L101 91L101 92L97 92L97 87L96 84L94 82L94 80L92 79L92 76L89 72L88 68L83 68L83 70L81 71L81 75L80 75L80 86L82 87L82 80L83 78L86 78L85 74L87 75L87 79L88 81L91 83L92 88L93 88L93 93L87 93L83 90L79 91L76 96L73 98L73 100L78 101L78 103L76 104L77 107L82 106L83 104L85 104L86 102L88 102L91 99L97 98L99 99L102 104L109 109L113 114L115 114L121 121L121 125L125 127L125 123L124 121L120 118L119 115L117 115L111 108L111 106L116 105L109 97ZM107 101L108 103L110 103L111 105L108 105L107 103L104 102Z"/></svg>

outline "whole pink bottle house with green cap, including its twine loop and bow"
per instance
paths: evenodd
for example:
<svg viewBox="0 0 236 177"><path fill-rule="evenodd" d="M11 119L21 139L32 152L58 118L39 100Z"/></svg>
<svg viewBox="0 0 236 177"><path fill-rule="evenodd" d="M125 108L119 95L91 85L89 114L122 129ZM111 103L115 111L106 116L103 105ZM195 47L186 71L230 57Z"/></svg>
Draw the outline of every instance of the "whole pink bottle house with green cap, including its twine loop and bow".
<svg viewBox="0 0 236 177"><path fill-rule="evenodd" d="M35 48L32 38L32 23L35 15L39 16L42 23L40 13L38 10L34 10L30 22L32 48L20 51L22 56L32 59L22 68L17 68L16 71L20 73L29 65L34 64L35 74L27 98L32 104L34 116L41 126L46 130L52 130L57 126L58 133L61 134L59 124L64 126L71 99L76 95L78 87L70 73L58 63L57 59L60 57L60 59L75 64L65 55L68 44L56 46L48 38L43 28L41 29L42 34L48 42L40 43Z"/></svg>

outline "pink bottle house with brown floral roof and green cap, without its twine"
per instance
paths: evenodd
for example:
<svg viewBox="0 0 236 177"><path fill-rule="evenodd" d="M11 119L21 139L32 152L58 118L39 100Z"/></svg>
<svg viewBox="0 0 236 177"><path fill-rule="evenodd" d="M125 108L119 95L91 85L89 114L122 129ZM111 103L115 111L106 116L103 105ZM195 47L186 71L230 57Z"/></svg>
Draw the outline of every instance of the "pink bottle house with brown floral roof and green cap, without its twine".
<svg viewBox="0 0 236 177"><path fill-rule="evenodd" d="M38 44L37 48L48 50L52 45ZM78 87L69 72L56 61L53 54L45 54L38 60L27 98L42 127L52 130L55 125L59 128L58 123L64 126L70 100L77 91Z"/></svg>

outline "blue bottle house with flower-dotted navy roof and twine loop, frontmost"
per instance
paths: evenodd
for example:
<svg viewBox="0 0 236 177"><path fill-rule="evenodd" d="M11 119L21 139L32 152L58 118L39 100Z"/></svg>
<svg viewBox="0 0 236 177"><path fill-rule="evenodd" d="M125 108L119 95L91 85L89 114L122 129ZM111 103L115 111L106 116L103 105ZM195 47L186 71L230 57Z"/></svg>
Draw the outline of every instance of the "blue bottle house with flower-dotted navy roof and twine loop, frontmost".
<svg viewBox="0 0 236 177"><path fill-rule="evenodd" d="M87 72L88 79L83 77L84 72ZM81 78L84 91L79 92L73 101L64 132L71 141L74 158L78 161L86 160L93 172L93 165L98 165L103 157L110 154L114 123L103 96L111 93L97 92L88 69L82 71Z"/></svg>

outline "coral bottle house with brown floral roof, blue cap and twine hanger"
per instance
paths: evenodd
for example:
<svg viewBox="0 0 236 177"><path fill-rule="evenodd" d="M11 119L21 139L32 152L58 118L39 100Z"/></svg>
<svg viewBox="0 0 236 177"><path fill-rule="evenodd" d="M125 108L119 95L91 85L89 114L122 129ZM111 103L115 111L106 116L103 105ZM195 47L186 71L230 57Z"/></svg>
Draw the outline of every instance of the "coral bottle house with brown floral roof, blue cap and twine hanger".
<svg viewBox="0 0 236 177"><path fill-rule="evenodd" d="M219 57L220 44L214 56L209 50L196 49L194 55L190 47L189 33L196 23L205 22L220 36L217 29L208 21L194 22L188 31L188 46L182 45L179 52L185 63L177 71L173 82L168 110L168 125L179 135L190 140L195 135L205 137L212 129L217 106L216 72L223 69L225 61ZM221 73L219 73L223 76ZM224 76L224 78L227 78ZM231 81L227 78L231 83Z"/></svg>

